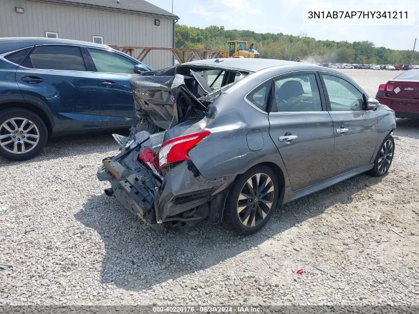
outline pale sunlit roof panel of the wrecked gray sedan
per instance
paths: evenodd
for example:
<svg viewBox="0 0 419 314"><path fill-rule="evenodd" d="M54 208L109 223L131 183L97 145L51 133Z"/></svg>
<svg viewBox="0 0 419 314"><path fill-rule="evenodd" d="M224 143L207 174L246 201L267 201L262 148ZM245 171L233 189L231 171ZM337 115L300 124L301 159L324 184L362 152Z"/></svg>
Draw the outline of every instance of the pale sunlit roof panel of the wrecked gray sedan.
<svg viewBox="0 0 419 314"><path fill-rule="evenodd" d="M196 66L214 66L219 68L226 69L235 69L243 70L247 72L257 72L262 69L277 66L277 65L300 65L304 63L286 61L286 60L276 60L276 59L260 59L260 58L219 58L219 59L204 59L196 60L187 63L182 63L184 65L196 65Z"/></svg>

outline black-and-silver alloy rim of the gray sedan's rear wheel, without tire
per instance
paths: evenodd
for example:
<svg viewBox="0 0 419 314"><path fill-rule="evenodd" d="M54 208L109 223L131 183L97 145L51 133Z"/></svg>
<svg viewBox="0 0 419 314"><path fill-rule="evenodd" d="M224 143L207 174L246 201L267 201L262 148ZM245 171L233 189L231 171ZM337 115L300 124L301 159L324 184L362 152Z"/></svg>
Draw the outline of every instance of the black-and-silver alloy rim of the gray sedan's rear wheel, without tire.
<svg viewBox="0 0 419 314"><path fill-rule="evenodd" d="M271 178L263 173L251 176L239 194L237 213L240 222L246 227L261 223L272 207L274 185Z"/></svg>

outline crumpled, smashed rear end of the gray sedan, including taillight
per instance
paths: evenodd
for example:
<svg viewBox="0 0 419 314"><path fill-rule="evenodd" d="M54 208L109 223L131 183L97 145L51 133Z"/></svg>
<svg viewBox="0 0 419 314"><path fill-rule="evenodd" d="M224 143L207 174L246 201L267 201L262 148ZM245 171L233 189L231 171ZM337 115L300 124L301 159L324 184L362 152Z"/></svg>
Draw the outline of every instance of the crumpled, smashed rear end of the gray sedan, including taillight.
<svg viewBox="0 0 419 314"><path fill-rule="evenodd" d="M193 93L180 74L131 79L137 104L148 108L150 118L168 131L114 136L122 151L103 160L97 174L100 181L111 183L107 195L157 230L184 231L203 219L218 223L222 212L214 208L223 207L231 184L229 178L204 178L188 156L211 136L206 116L214 97L202 97L208 90L199 79L190 83L196 88ZM201 100L196 97L200 95Z"/></svg>

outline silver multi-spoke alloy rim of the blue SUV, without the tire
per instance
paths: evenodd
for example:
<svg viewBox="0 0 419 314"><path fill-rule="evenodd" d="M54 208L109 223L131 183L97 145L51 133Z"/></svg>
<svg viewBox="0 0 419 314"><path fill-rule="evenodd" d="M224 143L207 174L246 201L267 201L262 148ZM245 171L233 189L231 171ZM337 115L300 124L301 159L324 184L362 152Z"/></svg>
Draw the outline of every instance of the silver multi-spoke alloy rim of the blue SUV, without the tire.
<svg viewBox="0 0 419 314"><path fill-rule="evenodd" d="M39 129L29 119L10 118L0 126L0 146L13 154L24 154L36 147Z"/></svg>

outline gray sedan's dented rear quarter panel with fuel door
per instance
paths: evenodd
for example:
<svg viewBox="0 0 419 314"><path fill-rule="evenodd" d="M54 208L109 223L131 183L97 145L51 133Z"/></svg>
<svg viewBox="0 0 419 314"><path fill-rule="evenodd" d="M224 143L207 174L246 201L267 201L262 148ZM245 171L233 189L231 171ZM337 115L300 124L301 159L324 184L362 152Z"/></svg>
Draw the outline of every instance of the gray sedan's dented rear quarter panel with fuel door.
<svg viewBox="0 0 419 314"><path fill-rule="evenodd" d="M207 128L211 134L189 151L189 158L201 175L210 179L236 177L257 164L271 162L281 168L287 187L287 172L269 136L268 114L244 101L247 92L258 85L258 77L254 80L250 85L238 83L223 92L210 106L209 114L191 126L188 132ZM262 142L258 147L254 145L255 133L260 134Z"/></svg>

